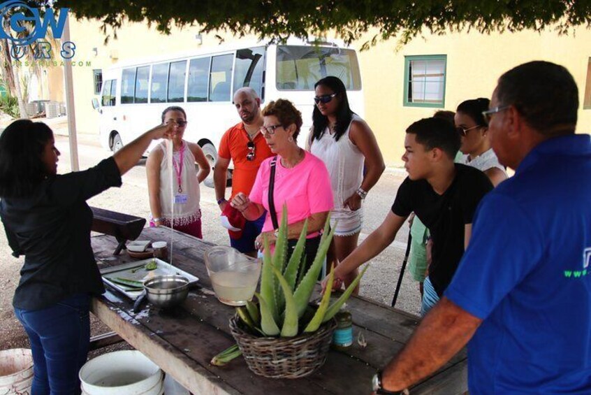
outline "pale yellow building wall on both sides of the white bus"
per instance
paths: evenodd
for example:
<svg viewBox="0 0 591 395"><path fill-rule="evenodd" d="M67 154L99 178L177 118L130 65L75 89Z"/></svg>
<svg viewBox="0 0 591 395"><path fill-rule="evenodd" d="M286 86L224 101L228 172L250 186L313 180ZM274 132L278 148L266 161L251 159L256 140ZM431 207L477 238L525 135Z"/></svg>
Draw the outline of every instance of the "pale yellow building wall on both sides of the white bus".
<svg viewBox="0 0 591 395"><path fill-rule="evenodd" d="M219 45L213 34L203 34L203 44L200 45L196 39L198 27L174 28L170 36L165 36L154 27L147 27L147 24L128 24L119 29L117 39L108 31L111 38L105 44L99 22L71 20L70 26L71 40L76 44L73 85L76 125L80 133L99 133L99 114L92 108L92 98L98 97L94 94L93 69L104 69L125 59ZM237 40L229 34L223 36L226 43ZM363 42L365 40L362 39L352 46L359 49ZM429 117L438 109L403 106L404 56L447 56L446 110L455 110L466 99L490 98L497 78L504 71L523 62L544 59L566 66L573 74L581 97L578 130L588 132L591 129L591 109L582 109L591 57L588 43L591 43L591 30L582 28L570 36L557 36L550 30L542 34L531 31L491 35L474 31L444 36L425 34L398 51L395 50L395 39L378 43L370 50L358 52L365 92L365 119L377 136L386 163L400 166L404 130L412 122ZM54 89L50 87L50 91Z"/></svg>

